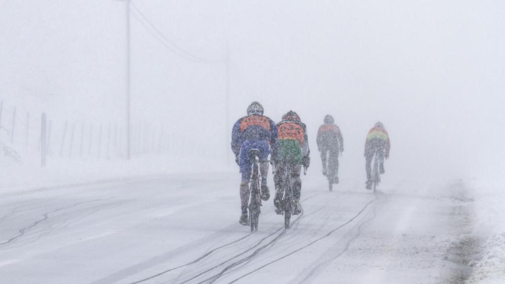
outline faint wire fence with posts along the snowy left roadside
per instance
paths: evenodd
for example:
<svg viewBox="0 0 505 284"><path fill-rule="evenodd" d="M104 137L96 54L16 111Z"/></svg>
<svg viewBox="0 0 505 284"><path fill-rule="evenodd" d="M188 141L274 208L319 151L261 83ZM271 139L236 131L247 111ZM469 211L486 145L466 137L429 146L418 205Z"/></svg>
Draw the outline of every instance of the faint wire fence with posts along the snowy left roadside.
<svg viewBox="0 0 505 284"><path fill-rule="evenodd" d="M170 143L167 133L161 123L132 123L131 154L173 154L177 142ZM39 160L44 166L52 158L126 159L127 138L125 123L57 120L0 101L0 142L23 161Z"/></svg>

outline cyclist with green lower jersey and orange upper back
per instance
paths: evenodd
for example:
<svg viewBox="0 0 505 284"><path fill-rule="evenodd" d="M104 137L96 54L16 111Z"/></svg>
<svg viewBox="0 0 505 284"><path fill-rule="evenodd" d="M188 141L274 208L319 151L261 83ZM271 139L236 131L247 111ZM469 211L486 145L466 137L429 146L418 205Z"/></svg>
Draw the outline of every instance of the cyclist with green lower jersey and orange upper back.
<svg viewBox="0 0 505 284"><path fill-rule="evenodd" d="M307 137L307 127L300 121L300 117L293 111L282 116L282 121L277 123L279 131L279 148L274 156L275 163L275 198L274 206L277 214L282 214L282 194L284 193L284 176L290 171L293 186L293 214L301 212L301 165L308 168L310 165L310 149Z"/></svg>

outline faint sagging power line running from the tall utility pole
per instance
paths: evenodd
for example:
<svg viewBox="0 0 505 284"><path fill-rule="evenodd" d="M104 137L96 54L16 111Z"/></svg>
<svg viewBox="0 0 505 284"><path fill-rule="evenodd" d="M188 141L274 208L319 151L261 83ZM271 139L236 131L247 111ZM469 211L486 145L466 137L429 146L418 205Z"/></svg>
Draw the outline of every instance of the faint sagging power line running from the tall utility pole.
<svg viewBox="0 0 505 284"><path fill-rule="evenodd" d="M156 27L149 19L140 11L140 9L130 1L130 5L135 10L135 13L132 13L133 17L135 17L148 31L151 35L153 35L160 43L165 46L171 52L183 57L186 60L197 61L204 64L212 64L223 62L222 59L208 59L193 55L184 49L180 48L177 44L171 41L159 28ZM133 10L132 10L133 12ZM138 14L138 15L136 15Z"/></svg>

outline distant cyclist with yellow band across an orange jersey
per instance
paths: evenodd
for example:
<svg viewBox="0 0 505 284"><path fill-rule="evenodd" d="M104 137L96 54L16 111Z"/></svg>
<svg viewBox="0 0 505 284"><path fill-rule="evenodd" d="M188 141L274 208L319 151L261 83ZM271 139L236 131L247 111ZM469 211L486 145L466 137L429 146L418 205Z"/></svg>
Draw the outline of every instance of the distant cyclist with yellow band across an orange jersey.
<svg viewBox="0 0 505 284"><path fill-rule="evenodd" d="M379 172L383 174L384 171L384 158L389 158L389 149L391 144L389 136L384 128L384 125L378 121L375 126L368 131L367 140L365 142L365 159L367 170L367 190L372 189L372 159L374 154L377 154L376 159L379 159Z"/></svg>

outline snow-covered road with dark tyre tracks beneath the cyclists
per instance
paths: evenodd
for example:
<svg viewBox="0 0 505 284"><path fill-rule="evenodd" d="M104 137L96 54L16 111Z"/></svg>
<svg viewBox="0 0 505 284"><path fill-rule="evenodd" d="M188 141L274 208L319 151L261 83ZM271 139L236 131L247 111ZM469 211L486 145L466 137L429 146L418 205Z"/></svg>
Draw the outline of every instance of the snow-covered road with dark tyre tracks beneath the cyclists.
<svg viewBox="0 0 505 284"><path fill-rule="evenodd" d="M284 230L263 206L238 224L238 175L154 176L4 194L3 283L460 283L479 241L465 183L372 194L304 180ZM271 185L271 188L273 185Z"/></svg>

